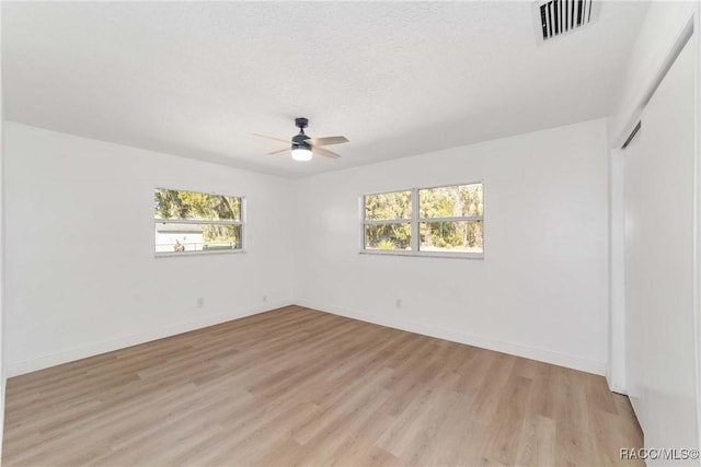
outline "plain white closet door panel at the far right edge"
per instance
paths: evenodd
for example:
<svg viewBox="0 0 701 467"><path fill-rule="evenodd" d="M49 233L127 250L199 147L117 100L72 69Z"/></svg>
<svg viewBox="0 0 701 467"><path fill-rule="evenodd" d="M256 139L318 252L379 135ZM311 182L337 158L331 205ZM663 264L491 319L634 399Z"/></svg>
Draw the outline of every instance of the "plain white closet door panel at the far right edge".
<svg viewBox="0 0 701 467"><path fill-rule="evenodd" d="M696 44L642 115L625 157L628 394L645 447L699 446L694 262ZM650 459L648 465L669 465ZM675 465L699 465L698 459Z"/></svg>

